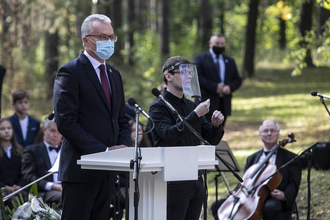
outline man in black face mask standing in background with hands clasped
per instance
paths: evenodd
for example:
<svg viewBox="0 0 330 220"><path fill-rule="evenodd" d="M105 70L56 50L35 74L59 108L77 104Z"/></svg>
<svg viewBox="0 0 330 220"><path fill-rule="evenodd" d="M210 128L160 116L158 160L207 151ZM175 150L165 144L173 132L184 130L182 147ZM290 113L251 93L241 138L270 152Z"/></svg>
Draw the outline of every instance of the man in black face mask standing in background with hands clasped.
<svg viewBox="0 0 330 220"><path fill-rule="evenodd" d="M211 122L212 113L218 110L225 117L222 122L224 126L226 117L231 114L232 92L240 87L242 79L234 59L223 55L225 38L221 33L211 35L209 47L209 51L197 55L194 60L202 95L202 100L196 99L196 104L210 99L206 120Z"/></svg>

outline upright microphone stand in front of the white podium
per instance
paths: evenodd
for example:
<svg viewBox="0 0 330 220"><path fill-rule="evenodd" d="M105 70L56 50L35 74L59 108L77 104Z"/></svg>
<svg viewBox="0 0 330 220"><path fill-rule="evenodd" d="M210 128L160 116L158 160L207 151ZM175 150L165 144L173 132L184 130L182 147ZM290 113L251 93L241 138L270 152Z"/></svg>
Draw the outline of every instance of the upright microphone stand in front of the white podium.
<svg viewBox="0 0 330 220"><path fill-rule="evenodd" d="M141 155L138 152L138 136L139 136L139 116L141 110L136 109L136 130L135 130L135 151L134 159L130 161L130 168L133 169L133 181L134 181L134 220L138 220L138 206L139 206L139 160L142 160ZM127 199L127 198L126 198Z"/></svg>

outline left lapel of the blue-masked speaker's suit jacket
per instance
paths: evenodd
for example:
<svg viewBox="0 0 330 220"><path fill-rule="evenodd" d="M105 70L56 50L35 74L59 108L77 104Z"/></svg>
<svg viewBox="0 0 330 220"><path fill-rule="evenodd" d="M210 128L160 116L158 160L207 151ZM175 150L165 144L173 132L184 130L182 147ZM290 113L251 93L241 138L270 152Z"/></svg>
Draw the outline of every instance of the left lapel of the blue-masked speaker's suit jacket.
<svg viewBox="0 0 330 220"><path fill-rule="evenodd" d="M104 104L106 105L109 114L111 115L111 111L110 111L110 107L108 104L108 100L107 97L105 96L103 87L101 85L100 80L98 79L96 72L92 66L92 64L90 63L90 61L88 60L88 58L85 56L85 54L83 54L82 52L79 55L80 61L83 65L83 69L86 72L88 78L92 81L92 83L94 84L97 92L100 94L100 96L102 97L102 100L104 102Z"/></svg>

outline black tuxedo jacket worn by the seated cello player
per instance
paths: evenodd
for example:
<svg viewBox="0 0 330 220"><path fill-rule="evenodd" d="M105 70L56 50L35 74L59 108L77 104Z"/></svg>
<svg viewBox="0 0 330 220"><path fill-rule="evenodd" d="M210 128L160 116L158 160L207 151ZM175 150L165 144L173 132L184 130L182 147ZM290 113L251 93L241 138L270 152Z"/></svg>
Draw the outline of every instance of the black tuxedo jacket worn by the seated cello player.
<svg viewBox="0 0 330 220"><path fill-rule="evenodd" d="M247 158L247 163L244 168L244 172L253 164L257 163L261 154L263 153L263 149L258 152L252 154ZM289 160L294 158L296 154L287 151L283 148L279 148L276 155L275 164L277 168L280 168L283 164L287 163ZM296 199L298 194L300 180L301 180L301 166L299 161L295 161L291 163L291 165L285 167L281 171L282 181L277 189L281 190L285 194L286 201L283 202L284 209L291 209L293 202Z"/></svg>

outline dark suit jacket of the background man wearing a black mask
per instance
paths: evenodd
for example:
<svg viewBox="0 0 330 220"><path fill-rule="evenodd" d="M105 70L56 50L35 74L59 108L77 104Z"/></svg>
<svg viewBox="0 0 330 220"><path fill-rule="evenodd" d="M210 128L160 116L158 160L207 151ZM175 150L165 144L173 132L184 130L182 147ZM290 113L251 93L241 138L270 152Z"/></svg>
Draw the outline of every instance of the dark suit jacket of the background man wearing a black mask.
<svg viewBox="0 0 330 220"><path fill-rule="evenodd" d="M224 84L230 86L231 93L238 89L242 83L236 64L233 58L223 55L223 60L225 62L225 81ZM218 110L219 107L219 95L216 94L217 84L221 82L220 75L217 73L217 69L211 53L207 51L206 53L199 54L195 57L194 64L196 64L199 85L201 89L202 100L196 99L197 105L201 102L210 99L210 111L213 113ZM231 97L232 95L223 96L224 112L223 115L231 114Z"/></svg>

